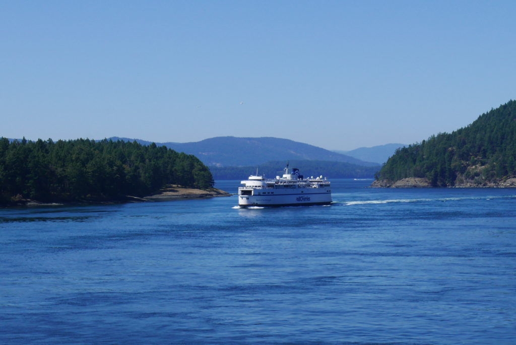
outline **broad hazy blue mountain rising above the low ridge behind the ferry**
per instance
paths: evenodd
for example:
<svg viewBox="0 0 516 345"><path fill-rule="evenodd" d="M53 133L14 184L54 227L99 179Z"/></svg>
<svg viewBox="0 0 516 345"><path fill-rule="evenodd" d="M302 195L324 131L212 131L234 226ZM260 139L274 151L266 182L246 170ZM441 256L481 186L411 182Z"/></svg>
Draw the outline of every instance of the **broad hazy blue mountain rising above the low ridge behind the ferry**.
<svg viewBox="0 0 516 345"><path fill-rule="evenodd" d="M134 141L140 144L150 144L150 141L111 137L110 140ZM256 166L271 160L324 160L346 162L359 166L378 166L375 162L362 161L357 158L335 153L321 147L296 142L288 139L237 138L216 137L197 142L176 143L164 142L156 145L165 145L175 151L192 154L198 157L207 166L237 167Z"/></svg>

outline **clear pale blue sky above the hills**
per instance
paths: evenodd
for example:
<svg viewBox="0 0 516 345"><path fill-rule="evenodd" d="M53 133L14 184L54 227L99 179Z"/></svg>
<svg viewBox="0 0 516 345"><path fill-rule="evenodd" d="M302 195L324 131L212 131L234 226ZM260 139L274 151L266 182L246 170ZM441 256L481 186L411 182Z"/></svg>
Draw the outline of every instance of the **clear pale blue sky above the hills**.
<svg viewBox="0 0 516 345"><path fill-rule="evenodd" d="M1 1L0 136L413 143L516 98L515 1Z"/></svg>

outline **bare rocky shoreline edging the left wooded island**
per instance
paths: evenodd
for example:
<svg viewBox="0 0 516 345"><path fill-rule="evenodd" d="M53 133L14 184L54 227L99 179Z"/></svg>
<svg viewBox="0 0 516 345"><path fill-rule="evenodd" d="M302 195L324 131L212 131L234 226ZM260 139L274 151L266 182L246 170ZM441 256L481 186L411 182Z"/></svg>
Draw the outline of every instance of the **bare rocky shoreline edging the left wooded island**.
<svg viewBox="0 0 516 345"><path fill-rule="evenodd" d="M125 195L117 200L77 200L74 202L39 202L37 200L24 199L21 195L13 198L11 203L7 205L0 205L0 207L23 207L23 206L62 206L62 205L111 205L135 202L160 202L171 200L185 200L185 199L207 199L215 198L217 196L231 196L231 193L225 192L217 188L210 189L195 189L186 188L178 185L169 185L160 189L158 193L148 196L132 196Z"/></svg>

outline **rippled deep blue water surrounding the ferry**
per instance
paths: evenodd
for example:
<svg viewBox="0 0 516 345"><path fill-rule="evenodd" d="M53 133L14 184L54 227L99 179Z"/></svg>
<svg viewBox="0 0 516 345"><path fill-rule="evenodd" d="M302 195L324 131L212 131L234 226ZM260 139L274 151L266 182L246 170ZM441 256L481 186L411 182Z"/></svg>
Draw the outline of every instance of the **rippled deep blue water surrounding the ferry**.
<svg viewBox="0 0 516 345"><path fill-rule="evenodd" d="M513 344L516 189L370 182L331 206L0 209L0 343Z"/></svg>

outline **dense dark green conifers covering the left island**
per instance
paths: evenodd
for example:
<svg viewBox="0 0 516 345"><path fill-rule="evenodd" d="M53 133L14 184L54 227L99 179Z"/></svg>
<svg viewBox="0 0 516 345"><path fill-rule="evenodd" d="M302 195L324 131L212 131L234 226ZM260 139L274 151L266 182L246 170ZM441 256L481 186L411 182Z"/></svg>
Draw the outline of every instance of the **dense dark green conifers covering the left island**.
<svg viewBox="0 0 516 345"><path fill-rule="evenodd" d="M212 174L195 156L165 146L77 139L53 142L0 138L0 203L111 200L143 196L165 184L206 189Z"/></svg>

